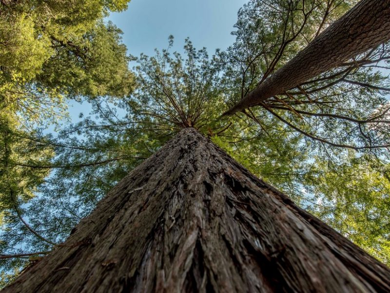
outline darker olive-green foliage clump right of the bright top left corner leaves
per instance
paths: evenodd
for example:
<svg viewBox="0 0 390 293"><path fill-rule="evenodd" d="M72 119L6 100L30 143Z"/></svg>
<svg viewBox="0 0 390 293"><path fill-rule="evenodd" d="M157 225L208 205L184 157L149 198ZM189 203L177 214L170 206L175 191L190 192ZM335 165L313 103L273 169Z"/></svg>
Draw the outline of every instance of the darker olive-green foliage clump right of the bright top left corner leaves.
<svg viewBox="0 0 390 293"><path fill-rule="evenodd" d="M49 58L38 75L39 86L60 88L71 97L123 97L132 88L126 47L121 31L102 21L72 38L53 37L56 56Z"/></svg>

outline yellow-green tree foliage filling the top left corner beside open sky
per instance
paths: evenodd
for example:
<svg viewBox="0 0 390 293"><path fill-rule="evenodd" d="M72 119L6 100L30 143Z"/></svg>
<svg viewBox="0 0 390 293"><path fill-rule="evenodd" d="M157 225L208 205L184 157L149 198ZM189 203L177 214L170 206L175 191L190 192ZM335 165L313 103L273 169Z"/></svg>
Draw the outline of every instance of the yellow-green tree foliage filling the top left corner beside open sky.
<svg viewBox="0 0 390 293"><path fill-rule="evenodd" d="M121 31L102 21L127 1L4 1L0 105L21 119L63 115L64 97L122 97L132 90ZM54 106L55 105L55 106Z"/></svg>

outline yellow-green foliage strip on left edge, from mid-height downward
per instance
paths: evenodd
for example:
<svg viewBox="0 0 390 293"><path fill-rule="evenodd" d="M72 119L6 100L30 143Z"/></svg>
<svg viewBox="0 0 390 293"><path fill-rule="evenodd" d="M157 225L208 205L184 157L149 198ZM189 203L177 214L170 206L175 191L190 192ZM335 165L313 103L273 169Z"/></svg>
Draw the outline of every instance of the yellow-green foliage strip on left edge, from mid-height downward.
<svg viewBox="0 0 390 293"><path fill-rule="evenodd" d="M39 185L44 183L50 171L48 168L26 168L25 165L32 162L48 164L54 152L52 147L42 145L35 139L36 131L26 133L20 130L19 121L4 114L7 113L0 112L0 224L7 237L0 237L0 250L18 253L24 251L17 249L17 245L27 240L24 237L26 234L31 234L23 223L26 218L22 207L35 198ZM12 229L18 230L18 242L8 237L12 237ZM42 247L42 239L33 239L29 245L34 249ZM24 249L28 250L29 245ZM45 247L47 249L49 246L46 244ZM12 280L13 273L19 272L26 265L26 260L11 258L2 260L2 263L4 271L1 272L1 282L6 282Z"/></svg>

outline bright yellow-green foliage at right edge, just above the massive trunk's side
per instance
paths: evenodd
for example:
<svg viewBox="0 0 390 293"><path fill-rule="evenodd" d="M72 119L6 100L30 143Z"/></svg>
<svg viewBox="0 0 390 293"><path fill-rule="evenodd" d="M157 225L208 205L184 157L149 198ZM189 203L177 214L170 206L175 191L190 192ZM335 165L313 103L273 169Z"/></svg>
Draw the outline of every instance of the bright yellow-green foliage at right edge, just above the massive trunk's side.
<svg viewBox="0 0 390 293"><path fill-rule="evenodd" d="M307 188L310 210L386 264L390 264L389 165L353 157L343 163L317 162L317 175Z"/></svg>

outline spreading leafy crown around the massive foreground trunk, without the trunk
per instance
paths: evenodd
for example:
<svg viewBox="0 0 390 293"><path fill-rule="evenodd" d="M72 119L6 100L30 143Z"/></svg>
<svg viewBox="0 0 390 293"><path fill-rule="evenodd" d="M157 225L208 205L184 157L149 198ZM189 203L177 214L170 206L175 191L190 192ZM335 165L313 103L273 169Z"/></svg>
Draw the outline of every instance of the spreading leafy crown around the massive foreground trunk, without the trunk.
<svg viewBox="0 0 390 293"><path fill-rule="evenodd" d="M190 124L255 175L284 190L296 204L316 212L388 263L386 173L372 162L372 167L365 167L365 176L359 174L356 166L367 164L353 150L328 160L324 154L332 149L317 151L271 115L263 115L260 125L249 117L220 119L227 88L220 78L218 57L209 58L205 49L195 50L189 40L184 50L184 58L169 49L153 57L142 55L137 90L121 99L119 108L110 97L93 100L94 116L66 126L57 137L39 134L33 141L37 148L57 154L49 162L23 157L13 161L23 172L52 173L38 186L41 195L20 210L36 233L15 212L6 214L7 230L1 235L3 270L22 268L39 253L50 251L50 242L61 243L110 188ZM359 185L351 186L356 178Z"/></svg>

